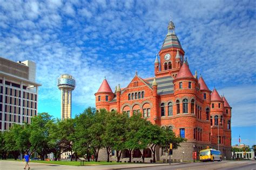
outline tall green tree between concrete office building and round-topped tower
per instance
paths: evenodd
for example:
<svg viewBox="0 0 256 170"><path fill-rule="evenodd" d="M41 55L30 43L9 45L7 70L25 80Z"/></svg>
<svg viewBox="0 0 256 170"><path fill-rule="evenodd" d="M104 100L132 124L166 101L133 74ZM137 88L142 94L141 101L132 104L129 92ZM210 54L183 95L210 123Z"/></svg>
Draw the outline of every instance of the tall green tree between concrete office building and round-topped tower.
<svg viewBox="0 0 256 170"><path fill-rule="evenodd" d="M35 117L32 117L30 124L31 136L29 141L31 143L31 150L36 150L36 152L41 156L42 160L46 154L51 152L49 146L49 127L52 123L52 117L48 113L41 113Z"/></svg>

